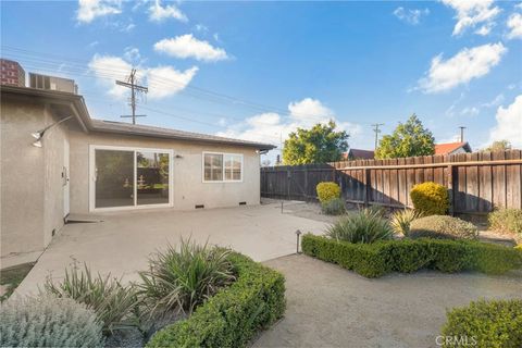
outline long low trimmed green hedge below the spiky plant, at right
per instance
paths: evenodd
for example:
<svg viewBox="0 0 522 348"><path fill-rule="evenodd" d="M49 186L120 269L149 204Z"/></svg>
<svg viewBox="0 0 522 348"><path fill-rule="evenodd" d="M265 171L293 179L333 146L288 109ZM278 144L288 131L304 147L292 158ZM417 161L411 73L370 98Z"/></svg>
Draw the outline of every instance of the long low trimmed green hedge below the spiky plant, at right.
<svg viewBox="0 0 522 348"><path fill-rule="evenodd" d="M522 268L520 250L473 240L420 238L352 244L307 234L301 246L310 257L336 263L365 277L421 269L501 274Z"/></svg>

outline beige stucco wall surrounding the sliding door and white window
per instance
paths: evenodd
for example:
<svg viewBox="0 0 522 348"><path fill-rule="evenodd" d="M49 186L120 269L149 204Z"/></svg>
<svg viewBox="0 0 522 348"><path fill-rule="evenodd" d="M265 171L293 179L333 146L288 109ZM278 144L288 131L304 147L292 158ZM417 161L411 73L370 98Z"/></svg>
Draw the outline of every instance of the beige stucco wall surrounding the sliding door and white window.
<svg viewBox="0 0 522 348"><path fill-rule="evenodd" d="M259 153L253 148L80 132L70 132L70 141L72 213L89 212L89 185L94 185L92 178L89 177L90 145L173 150L172 209L191 210L196 204L204 204L208 209L235 207L241 201L246 201L247 204L260 202ZM203 151L243 153L243 182L203 183Z"/></svg>

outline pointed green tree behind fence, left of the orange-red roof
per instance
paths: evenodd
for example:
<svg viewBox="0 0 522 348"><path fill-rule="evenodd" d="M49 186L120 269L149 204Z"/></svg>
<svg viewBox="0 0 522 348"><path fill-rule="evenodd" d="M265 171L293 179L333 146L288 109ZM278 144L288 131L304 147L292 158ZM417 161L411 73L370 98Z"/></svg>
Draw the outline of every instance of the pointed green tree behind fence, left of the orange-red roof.
<svg viewBox="0 0 522 348"><path fill-rule="evenodd" d="M412 114L406 123L399 123L391 135L385 135L375 151L376 159L396 159L435 153L435 138Z"/></svg>

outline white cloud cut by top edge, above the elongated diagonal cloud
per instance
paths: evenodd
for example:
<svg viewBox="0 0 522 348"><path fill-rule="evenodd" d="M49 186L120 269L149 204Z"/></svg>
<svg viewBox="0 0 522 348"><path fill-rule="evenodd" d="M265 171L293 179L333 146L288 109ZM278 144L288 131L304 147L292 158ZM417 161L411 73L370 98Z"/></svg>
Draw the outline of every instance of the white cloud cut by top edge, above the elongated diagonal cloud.
<svg viewBox="0 0 522 348"><path fill-rule="evenodd" d="M473 28L480 24L494 23L493 20L500 13L500 8L493 7L494 0L442 0L447 7L457 11L457 24L453 35L462 34L467 28ZM486 29L478 29L477 34ZM481 34L482 35L482 34Z"/></svg>

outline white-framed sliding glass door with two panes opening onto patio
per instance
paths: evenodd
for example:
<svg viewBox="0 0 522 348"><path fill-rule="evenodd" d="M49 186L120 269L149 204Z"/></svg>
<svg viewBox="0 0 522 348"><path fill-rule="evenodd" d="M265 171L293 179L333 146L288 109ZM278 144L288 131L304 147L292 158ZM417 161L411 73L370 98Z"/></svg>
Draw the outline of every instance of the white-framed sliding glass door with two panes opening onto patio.
<svg viewBox="0 0 522 348"><path fill-rule="evenodd" d="M91 146L90 210L172 204L172 150Z"/></svg>

